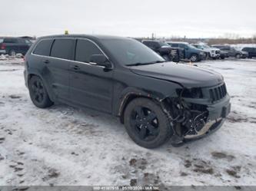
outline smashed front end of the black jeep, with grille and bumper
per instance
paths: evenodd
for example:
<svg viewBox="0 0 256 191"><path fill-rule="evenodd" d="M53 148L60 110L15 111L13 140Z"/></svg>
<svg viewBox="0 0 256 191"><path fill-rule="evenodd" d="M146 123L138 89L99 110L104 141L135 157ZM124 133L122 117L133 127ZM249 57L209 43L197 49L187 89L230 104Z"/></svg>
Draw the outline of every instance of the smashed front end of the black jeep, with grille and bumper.
<svg viewBox="0 0 256 191"><path fill-rule="evenodd" d="M224 82L214 87L178 89L177 94L179 97L168 98L165 102L174 145L197 140L218 130L231 110Z"/></svg>

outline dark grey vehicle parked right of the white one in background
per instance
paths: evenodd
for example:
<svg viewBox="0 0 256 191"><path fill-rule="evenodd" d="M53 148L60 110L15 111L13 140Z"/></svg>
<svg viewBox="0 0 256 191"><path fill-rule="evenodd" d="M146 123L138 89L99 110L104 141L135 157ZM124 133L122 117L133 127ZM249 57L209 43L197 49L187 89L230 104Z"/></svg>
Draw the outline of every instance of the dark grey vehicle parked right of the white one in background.
<svg viewBox="0 0 256 191"><path fill-rule="evenodd" d="M238 48L231 47L230 45L214 44L212 47L219 48L221 51L228 52L229 57L248 58L248 52L241 51Z"/></svg>

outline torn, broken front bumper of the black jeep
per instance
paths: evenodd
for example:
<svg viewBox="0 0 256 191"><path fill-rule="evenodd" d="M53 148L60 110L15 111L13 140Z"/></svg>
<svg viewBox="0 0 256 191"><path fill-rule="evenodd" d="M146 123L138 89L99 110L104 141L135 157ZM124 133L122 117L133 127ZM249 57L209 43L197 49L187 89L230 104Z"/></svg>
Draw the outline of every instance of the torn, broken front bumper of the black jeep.
<svg viewBox="0 0 256 191"><path fill-rule="evenodd" d="M197 111L198 115L187 115L183 121L173 123L175 136L173 139L171 138L171 143L174 146L180 146L183 143L198 140L214 133L222 126L231 110L228 94L214 104L209 103L206 99L184 98L183 101L190 106L204 109L201 110L201 114L200 111Z"/></svg>

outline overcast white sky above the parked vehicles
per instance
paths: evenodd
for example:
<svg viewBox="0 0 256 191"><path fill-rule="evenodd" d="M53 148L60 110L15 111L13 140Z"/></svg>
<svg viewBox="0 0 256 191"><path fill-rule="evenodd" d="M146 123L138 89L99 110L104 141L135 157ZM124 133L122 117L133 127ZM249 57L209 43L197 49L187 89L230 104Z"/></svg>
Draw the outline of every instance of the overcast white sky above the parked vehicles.
<svg viewBox="0 0 256 191"><path fill-rule="evenodd" d="M256 35L255 0L1 0L0 35Z"/></svg>

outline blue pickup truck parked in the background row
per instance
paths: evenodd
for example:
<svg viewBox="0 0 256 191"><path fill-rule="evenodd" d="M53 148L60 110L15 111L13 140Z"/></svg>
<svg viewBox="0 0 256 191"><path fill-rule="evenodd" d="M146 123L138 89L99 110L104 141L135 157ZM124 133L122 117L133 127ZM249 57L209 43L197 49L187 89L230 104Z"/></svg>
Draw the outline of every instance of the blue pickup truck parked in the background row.
<svg viewBox="0 0 256 191"><path fill-rule="evenodd" d="M185 51L184 59L191 60L193 62L201 61L206 58L206 54L203 50L193 47L188 42L167 41L167 44L172 48L182 48Z"/></svg>

